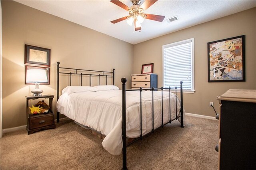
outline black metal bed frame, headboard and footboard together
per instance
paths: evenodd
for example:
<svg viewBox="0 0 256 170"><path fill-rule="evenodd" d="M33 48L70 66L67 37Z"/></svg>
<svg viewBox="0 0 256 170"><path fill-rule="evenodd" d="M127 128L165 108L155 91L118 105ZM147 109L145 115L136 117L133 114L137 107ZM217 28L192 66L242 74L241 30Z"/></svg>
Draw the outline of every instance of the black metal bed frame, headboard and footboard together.
<svg viewBox="0 0 256 170"><path fill-rule="evenodd" d="M76 69L76 68L64 68L64 67L60 67L60 62L57 62L57 100L59 98L59 76L60 74L70 74L70 86L71 86L71 78L72 78L72 74L74 75L81 75L81 86L82 86L82 76L83 75L88 75L90 76L90 86L92 85L92 76L98 76L98 84L100 85L100 76L106 76L106 84L107 84L107 79L108 77L113 77L113 85L114 85L114 73L115 73L115 69L113 69L113 72L106 72L106 71L97 71L97 70L84 70L84 69ZM60 68L61 69L67 69L67 70L73 70L75 71L75 73L72 72L60 72ZM82 73L78 73L78 71L86 71L86 72L101 72L102 74L82 74ZM110 75L104 75L104 73L112 73L112 76ZM122 170L128 170L127 169L127 156L126 156L126 148L127 146L129 146L130 144L136 142L137 140L142 140L143 136L146 136L148 134L154 133L154 130L158 129L158 128L163 128L164 125L171 123L174 120L177 120L178 118L181 118L181 126L180 127L184 127L183 125L183 90L182 90L182 83L180 82L180 87L174 87L174 88L139 88L139 89L132 89L132 90L126 90L126 82L127 79L126 78L122 78L121 79L122 82L122 142L123 142L123 148L122 148L122 156L123 156L123 167ZM171 95L171 89L175 89L175 95L176 95L176 117L174 119L171 119L171 100L170 100L170 95ZM178 116L177 114L177 89L180 89L180 116ZM152 91L152 130L150 132L148 132L147 134L142 135L142 91L143 90L151 90ZM154 129L154 90L161 90L162 92L162 125L158 128ZM163 120L163 90L169 90L169 116L170 116L170 120L169 122L164 124L164 120ZM128 91L140 91L140 137L134 139L132 142L130 142L129 144L126 144L126 92ZM59 114L60 112L57 112L57 122L59 121Z"/></svg>

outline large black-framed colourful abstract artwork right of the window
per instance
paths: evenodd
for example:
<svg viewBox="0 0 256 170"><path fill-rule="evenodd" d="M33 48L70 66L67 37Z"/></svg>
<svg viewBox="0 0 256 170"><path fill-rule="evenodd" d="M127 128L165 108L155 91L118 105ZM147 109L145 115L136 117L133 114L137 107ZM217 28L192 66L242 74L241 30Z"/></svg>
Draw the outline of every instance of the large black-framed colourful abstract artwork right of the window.
<svg viewBox="0 0 256 170"><path fill-rule="evenodd" d="M245 82L245 36L207 43L208 82Z"/></svg>

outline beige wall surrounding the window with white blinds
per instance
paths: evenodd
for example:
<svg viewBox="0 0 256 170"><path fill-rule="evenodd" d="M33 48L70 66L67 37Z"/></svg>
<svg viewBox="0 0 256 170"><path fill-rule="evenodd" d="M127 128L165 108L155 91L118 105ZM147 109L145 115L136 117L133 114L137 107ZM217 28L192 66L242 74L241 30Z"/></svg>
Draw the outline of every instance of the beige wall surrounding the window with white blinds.
<svg viewBox="0 0 256 170"><path fill-rule="evenodd" d="M207 42L240 35L245 35L246 82L208 83ZM219 112L216 96L228 89L256 89L256 8L134 45L133 74L141 72L142 64L154 63L158 86L162 86L162 46L188 38L194 38L196 92L184 94L186 112L215 116L209 102L214 102L215 109Z"/></svg>

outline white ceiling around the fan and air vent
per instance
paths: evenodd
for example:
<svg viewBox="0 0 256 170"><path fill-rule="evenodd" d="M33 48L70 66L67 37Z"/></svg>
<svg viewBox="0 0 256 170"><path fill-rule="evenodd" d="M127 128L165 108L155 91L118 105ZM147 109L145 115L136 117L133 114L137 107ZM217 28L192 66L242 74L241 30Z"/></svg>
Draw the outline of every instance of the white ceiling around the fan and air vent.
<svg viewBox="0 0 256 170"><path fill-rule="evenodd" d="M158 0L145 13L165 16L163 22L144 20L141 32L126 21L110 21L128 16L128 11L110 0L16 0L21 4L58 16L109 36L137 44L177 30L228 16L256 6L256 0ZM131 0L120 0L132 6ZM144 0L142 0L142 3ZM166 19L178 16L168 23Z"/></svg>

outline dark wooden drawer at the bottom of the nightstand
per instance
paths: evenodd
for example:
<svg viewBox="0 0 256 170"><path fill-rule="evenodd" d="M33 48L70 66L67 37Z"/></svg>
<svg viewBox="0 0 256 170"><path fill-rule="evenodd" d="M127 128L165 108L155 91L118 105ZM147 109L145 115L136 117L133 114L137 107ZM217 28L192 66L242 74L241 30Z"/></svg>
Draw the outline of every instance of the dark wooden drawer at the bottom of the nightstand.
<svg viewBox="0 0 256 170"><path fill-rule="evenodd" d="M50 126L54 124L54 114L48 113L47 115L41 114L36 116L30 116L28 119L29 128L36 129L44 126Z"/></svg>

